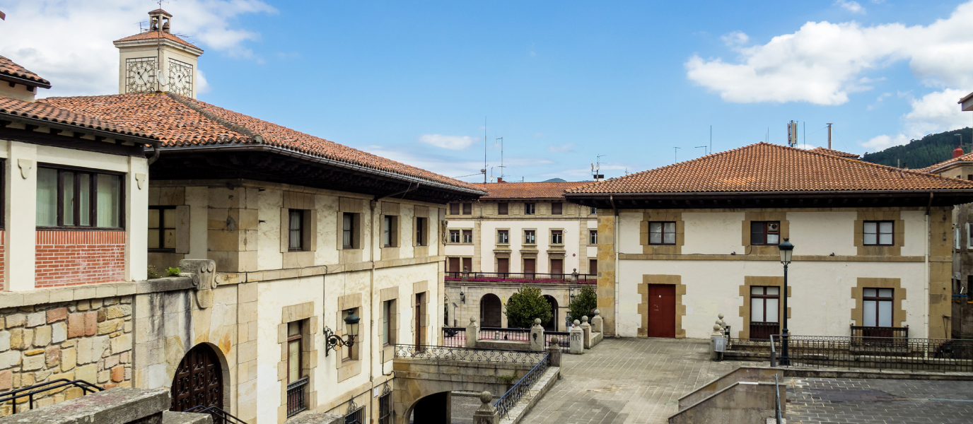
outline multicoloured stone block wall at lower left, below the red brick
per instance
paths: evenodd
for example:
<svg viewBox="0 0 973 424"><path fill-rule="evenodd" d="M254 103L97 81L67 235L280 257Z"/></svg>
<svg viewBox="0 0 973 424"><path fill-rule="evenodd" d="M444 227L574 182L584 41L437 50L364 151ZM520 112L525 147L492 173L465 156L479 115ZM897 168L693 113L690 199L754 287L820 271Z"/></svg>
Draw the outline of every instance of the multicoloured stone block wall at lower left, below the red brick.
<svg viewBox="0 0 973 424"><path fill-rule="evenodd" d="M131 302L123 296L0 309L0 392L58 378L130 387ZM34 407L79 396L79 388L55 389L35 396ZM18 400L18 410L26 402ZM0 416L11 411L10 403L0 405Z"/></svg>

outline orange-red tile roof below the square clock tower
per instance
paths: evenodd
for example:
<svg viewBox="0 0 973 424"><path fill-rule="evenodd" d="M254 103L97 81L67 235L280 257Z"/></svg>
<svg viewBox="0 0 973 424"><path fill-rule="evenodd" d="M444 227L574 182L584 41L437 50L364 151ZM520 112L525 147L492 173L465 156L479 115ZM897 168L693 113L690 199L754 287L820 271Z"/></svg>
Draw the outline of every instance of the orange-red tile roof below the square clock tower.
<svg viewBox="0 0 973 424"><path fill-rule="evenodd" d="M450 177L171 92L47 97L39 101L151 132L162 139L163 148L267 145L480 192L473 185Z"/></svg>

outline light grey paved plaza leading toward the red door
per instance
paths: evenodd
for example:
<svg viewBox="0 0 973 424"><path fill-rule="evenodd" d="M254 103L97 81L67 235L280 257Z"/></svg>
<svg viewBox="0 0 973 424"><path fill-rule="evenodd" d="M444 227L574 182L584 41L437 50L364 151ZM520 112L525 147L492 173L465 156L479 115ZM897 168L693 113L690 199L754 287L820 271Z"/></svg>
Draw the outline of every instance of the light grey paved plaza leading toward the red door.
<svg viewBox="0 0 973 424"><path fill-rule="evenodd" d="M710 362L708 349L701 339L605 338L563 356L563 379L522 423L665 423L681 396L739 367Z"/></svg>

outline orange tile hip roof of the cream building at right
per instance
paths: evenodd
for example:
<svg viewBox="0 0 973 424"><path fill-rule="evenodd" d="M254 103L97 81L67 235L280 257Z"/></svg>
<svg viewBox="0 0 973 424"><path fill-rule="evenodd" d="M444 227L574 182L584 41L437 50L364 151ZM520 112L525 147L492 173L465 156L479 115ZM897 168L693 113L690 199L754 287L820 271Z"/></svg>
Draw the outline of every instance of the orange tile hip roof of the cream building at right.
<svg viewBox="0 0 973 424"><path fill-rule="evenodd" d="M569 194L780 193L973 189L973 182L769 143L612 178Z"/></svg>

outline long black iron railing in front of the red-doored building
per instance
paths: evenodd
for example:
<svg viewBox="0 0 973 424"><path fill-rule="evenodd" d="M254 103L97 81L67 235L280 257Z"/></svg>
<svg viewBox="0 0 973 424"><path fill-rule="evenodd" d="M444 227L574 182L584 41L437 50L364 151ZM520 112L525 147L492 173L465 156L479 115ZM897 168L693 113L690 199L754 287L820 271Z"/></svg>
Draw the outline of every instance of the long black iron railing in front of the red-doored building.
<svg viewBox="0 0 973 424"><path fill-rule="evenodd" d="M871 368L909 371L973 371L973 339L771 336L772 356L791 367ZM772 361L773 363L774 361Z"/></svg>

